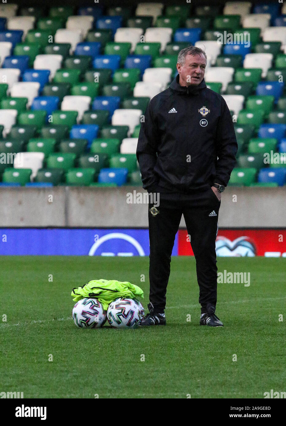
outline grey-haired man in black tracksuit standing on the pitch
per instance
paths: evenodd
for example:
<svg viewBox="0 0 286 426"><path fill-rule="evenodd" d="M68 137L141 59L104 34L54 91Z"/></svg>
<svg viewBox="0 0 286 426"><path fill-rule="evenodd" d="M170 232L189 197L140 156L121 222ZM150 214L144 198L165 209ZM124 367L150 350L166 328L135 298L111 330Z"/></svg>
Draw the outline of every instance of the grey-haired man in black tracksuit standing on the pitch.
<svg viewBox="0 0 286 426"><path fill-rule="evenodd" d="M201 325L222 326L215 315L215 240L222 191L236 163L237 141L225 100L208 89L206 55L194 46L178 55L178 75L154 96L139 133L137 159L143 188L159 193L149 204L150 303L142 325L165 325L171 253L184 215L196 259Z"/></svg>

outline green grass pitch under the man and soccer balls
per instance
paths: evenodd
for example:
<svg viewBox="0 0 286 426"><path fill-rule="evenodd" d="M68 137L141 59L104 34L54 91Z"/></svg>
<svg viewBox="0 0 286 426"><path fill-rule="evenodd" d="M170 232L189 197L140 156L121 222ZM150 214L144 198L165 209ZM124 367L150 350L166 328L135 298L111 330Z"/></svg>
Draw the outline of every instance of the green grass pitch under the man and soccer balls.
<svg viewBox="0 0 286 426"><path fill-rule="evenodd" d="M91 279L130 281L144 290L146 309L148 257L0 262L0 391L23 391L24 398L263 398L285 390L283 258L218 258L218 272L249 272L250 285L218 284L216 313L225 326L212 328L199 326L194 258L173 257L167 325L135 330L76 328L70 293Z"/></svg>

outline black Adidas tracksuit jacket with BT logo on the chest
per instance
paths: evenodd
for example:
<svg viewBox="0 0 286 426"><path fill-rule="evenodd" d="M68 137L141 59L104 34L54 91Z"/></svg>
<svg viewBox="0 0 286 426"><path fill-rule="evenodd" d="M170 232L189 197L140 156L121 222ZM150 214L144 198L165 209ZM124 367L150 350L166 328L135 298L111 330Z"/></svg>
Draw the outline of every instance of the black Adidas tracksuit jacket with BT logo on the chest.
<svg viewBox="0 0 286 426"><path fill-rule="evenodd" d="M199 112L203 107L209 110L206 115ZM136 150L148 192L156 192L157 185L177 193L205 190L213 183L226 186L236 153L228 106L205 80L198 86L180 86L177 75L150 100Z"/></svg>

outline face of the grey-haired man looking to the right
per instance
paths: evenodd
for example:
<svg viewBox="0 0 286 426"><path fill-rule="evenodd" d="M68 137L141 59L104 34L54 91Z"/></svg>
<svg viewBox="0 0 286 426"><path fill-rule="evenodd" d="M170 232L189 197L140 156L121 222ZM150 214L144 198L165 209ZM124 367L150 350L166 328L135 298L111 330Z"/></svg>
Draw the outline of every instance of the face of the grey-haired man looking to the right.
<svg viewBox="0 0 286 426"><path fill-rule="evenodd" d="M179 84L181 86L198 86L205 75L205 55L186 55L184 65L177 63Z"/></svg>

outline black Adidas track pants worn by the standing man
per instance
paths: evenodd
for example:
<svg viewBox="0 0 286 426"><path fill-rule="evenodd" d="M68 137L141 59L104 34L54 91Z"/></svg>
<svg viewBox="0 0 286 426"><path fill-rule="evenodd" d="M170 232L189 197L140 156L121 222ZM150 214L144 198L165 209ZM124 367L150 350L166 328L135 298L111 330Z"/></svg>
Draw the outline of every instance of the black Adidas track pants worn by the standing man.
<svg viewBox="0 0 286 426"><path fill-rule="evenodd" d="M150 302L158 312L165 309L171 253L183 214L196 259L199 303L202 313L206 312L207 302L217 303L215 240L220 201L209 187L191 195L160 192L159 206L152 207L154 204L149 204Z"/></svg>

